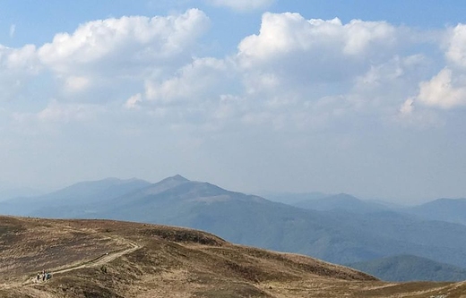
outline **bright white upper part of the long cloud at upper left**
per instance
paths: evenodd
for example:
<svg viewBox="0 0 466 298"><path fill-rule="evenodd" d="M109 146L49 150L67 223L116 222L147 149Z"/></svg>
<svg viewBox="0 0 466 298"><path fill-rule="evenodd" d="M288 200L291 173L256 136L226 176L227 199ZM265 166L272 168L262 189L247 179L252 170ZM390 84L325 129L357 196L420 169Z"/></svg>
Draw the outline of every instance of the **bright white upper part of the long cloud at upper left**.
<svg viewBox="0 0 466 298"><path fill-rule="evenodd" d="M71 35L57 34L39 48L39 57L56 72L72 72L82 65L95 68L106 60L116 66L162 63L184 53L208 23L207 16L197 9L168 17L90 21Z"/></svg>

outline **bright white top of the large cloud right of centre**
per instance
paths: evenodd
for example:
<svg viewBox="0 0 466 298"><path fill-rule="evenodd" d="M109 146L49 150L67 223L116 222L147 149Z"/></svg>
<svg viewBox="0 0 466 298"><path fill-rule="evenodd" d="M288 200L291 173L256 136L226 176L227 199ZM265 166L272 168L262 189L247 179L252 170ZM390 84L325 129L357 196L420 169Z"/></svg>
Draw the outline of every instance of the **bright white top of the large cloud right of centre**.
<svg viewBox="0 0 466 298"><path fill-rule="evenodd" d="M384 21L353 20L343 25L339 19L306 20L298 13L264 13L259 35L244 38L238 48L245 66L292 55L328 63L335 56L340 60L369 59L382 49L390 54L395 41L395 28Z"/></svg>

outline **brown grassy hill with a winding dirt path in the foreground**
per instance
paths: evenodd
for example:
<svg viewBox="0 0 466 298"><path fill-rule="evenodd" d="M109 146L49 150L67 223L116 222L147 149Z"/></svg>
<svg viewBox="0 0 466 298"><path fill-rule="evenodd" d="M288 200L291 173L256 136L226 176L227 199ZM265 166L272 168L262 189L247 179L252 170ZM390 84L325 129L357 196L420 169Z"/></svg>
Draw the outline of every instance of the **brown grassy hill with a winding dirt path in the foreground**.
<svg viewBox="0 0 466 298"><path fill-rule="evenodd" d="M0 296L462 297L464 283L384 283L213 234L110 220L0 217ZM37 280L42 268L52 278Z"/></svg>

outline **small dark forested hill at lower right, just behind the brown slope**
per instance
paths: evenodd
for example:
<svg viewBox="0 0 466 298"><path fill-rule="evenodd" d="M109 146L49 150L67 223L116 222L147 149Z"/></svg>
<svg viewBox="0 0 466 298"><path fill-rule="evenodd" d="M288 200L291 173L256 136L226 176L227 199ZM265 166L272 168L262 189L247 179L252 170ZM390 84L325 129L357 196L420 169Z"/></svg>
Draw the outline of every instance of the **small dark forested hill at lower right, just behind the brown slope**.
<svg viewBox="0 0 466 298"><path fill-rule="evenodd" d="M466 269L411 255L387 257L349 265L387 281L462 281Z"/></svg>

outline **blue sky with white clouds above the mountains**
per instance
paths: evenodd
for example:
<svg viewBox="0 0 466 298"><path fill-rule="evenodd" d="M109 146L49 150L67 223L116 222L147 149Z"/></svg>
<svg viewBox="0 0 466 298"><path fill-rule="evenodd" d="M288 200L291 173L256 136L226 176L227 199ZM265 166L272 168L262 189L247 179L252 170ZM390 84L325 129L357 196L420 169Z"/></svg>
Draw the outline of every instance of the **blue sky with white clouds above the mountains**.
<svg viewBox="0 0 466 298"><path fill-rule="evenodd" d="M460 0L0 0L0 188L466 197Z"/></svg>

